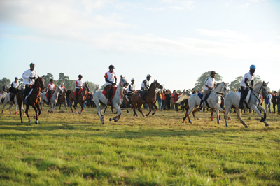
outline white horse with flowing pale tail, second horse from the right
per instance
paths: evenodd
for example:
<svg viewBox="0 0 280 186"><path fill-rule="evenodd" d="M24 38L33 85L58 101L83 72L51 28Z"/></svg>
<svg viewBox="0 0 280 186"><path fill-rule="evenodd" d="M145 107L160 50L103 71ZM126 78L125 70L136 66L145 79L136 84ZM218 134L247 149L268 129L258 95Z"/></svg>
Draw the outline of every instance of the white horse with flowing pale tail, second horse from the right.
<svg viewBox="0 0 280 186"><path fill-rule="evenodd" d="M211 94L209 95L209 98L207 99L207 102L209 103L209 107L210 108L216 108L216 113L217 113L217 123L220 124L220 120L219 120L219 111L225 113L225 110L223 110L223 108L220 107L221 105L221 93L222 94L228 94L228 83L217 83L214 91L211 92ZM193 112L193 110L195 110L196 108L198 108L198 106L200 106L200 97L197 96L197 94L190 94L189 92L183 92L183 94L181 94L179 100L176 103L181 103L183 100L188 99L188 104L189 104L189 110L186 113L186 116L183 117L183 122L185 122L186 118L188 117L188 122L192 123L192 121L190 120L190 113ZM207 104L203 103L203 107L204 108L208 108Z"/></svg>

